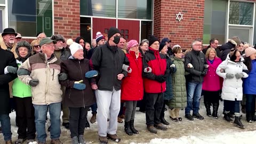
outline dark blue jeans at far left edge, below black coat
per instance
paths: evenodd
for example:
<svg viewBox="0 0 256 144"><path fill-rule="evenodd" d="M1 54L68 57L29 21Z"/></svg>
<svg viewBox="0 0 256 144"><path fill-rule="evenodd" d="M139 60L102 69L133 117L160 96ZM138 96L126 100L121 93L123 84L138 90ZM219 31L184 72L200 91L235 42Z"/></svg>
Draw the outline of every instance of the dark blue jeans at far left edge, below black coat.
<svg viewBox="0 0 256 144"><path fill-rule="evenodd" d="M4 135L4 141L12 140L11 122L9 115L1 114L0 121L2 125L2 133Z"/></svg>

